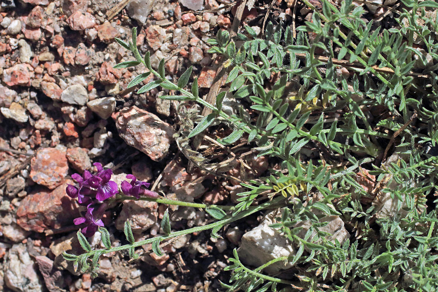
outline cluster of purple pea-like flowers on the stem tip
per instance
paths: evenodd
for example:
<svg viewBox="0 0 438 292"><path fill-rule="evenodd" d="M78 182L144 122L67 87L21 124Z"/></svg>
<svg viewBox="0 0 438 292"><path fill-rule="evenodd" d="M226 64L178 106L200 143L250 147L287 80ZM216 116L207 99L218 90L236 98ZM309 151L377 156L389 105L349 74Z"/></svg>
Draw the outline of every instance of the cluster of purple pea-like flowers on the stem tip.
<svg viewBox="0 0 438 292"><path fill-rule="evenodd" d="M101 218L106 207L108 207L103 201L114 196L119 191L117 183L111 180L113 171L110 169L104 170L99 162L93 165L97 168L97 174L93 175L87 170L84 171L82 176L77 173L72 174L71 178L78 183L79 188L74 185L67 185L66 188L68 196L78 198L79 205L87 206L84 217L76 218L73 221L75 225L86 224L86 227L82 228L82 233L85 236L92 236L99 226L103 227ZM149 183L138 181L132 174L128 174L126 178L131 179L131 183L123 181L120 185L126 196L134 196L137 199L140 196L152 198L158 196L156 192L145 189L150 185Z"/></svg>

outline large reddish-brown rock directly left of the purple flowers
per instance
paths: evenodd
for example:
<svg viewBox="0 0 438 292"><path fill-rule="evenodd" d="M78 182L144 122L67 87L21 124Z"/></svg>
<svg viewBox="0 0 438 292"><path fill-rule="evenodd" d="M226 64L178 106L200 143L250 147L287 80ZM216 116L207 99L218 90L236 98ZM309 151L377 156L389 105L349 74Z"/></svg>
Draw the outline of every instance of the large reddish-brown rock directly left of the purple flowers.
<svg viewBox="0 0 438 292"><path fill-rule="evenodd" d="M67 183L53 191L42 190L26 196L17 209L17 224L27 231L43 232L71 225L79 217L78 205L65 193Z"/></svg>

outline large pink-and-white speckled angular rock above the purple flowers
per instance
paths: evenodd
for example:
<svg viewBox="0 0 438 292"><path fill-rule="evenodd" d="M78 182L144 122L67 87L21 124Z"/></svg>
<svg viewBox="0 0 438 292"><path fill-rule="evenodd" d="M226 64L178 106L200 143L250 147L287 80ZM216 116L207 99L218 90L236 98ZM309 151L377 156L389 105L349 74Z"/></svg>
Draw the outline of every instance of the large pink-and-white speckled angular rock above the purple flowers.
<svg viewBox="0 0 438 292"><path fill-rule="evenodd" d="M175 131L155 114L138 107L125 108L116 118L120 137L152 160L161 160L169 152Z"/></svg>

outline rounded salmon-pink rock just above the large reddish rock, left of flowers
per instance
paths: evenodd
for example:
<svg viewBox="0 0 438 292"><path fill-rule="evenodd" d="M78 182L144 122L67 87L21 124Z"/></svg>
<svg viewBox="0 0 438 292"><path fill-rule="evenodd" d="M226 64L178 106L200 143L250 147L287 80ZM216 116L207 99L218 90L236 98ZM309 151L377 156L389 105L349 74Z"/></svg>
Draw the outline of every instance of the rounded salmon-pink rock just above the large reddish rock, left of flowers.
<svg viewBox="0 0 438 292"><path fill-rule="evenodd" d="M56 148L38 150L31 160L30 177L39 185L55 189L67 178L66 152Z"/></svg>

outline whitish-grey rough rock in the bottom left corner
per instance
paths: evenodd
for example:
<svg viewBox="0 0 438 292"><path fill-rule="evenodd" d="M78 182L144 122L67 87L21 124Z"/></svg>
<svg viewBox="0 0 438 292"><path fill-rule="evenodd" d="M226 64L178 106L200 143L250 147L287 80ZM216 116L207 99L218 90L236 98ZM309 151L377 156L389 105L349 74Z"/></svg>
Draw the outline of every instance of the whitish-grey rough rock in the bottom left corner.
<svg viewBox="0 0 438 292"><path fill-rule="evenodd" d="M44 283L35 271L35 262L24 244L14 244L4 259L4 282L8 288L23 292L44 290Z"/></svg>

